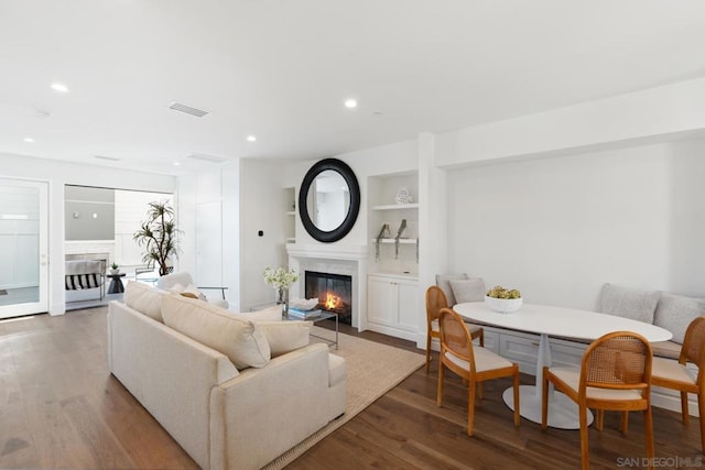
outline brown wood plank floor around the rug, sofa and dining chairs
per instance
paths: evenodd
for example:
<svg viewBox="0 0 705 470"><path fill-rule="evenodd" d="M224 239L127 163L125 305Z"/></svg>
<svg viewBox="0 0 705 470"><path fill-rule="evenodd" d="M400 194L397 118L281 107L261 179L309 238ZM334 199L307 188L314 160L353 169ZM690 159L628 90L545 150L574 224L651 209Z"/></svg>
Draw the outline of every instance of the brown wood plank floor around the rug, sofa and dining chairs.
<svg viewBox="0 0 705 470"><path fill-rule="evenodd" d="M194 461L108 373L106 308L61 317L0 321L0 468L195 468ZM341 330L349 328L341 327ZM364 338L415 350L383 335ZM436 406L437 362L413 373L345 426L294 461L290 469L570 469L579 467L575 430L549 429L522 419L514 428L500 393L486 384L467 437L466 389L447 374L445 404ZM532 376L522 376L532 383ZM654 408L659 468L699 467L698 422ZM640 468L642 418L632 413L622 436L618 416L589 431L593 468ZM627 460L627 459L633 460ZM679 460L680 459L680 460Z"/></svg>

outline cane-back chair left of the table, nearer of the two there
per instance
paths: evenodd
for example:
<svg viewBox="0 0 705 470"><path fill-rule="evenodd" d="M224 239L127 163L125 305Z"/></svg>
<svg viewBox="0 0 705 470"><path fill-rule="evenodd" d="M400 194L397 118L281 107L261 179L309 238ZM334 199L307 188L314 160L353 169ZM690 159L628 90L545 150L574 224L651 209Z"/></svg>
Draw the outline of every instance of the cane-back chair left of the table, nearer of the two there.
<svg viewBox="0 0 705 470"><path fill-rule="evenodd" d="M467 435L473 436L476 385L488 380L511 376L514 389L514 426L519 426L521 420L519 414L519 365L488 349L475 348L467 325L455 310L442 308L438 325L441 327L441 360L438 361L437 405L443 405L443 375L447 368L463 378L463 381L468 382Z"/></svg>

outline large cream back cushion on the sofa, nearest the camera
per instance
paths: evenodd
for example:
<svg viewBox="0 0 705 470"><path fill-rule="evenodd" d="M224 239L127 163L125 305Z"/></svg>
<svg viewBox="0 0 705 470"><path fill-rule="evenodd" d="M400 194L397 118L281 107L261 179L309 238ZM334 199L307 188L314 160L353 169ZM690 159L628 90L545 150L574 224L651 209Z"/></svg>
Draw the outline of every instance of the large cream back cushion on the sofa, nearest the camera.
<svg viewBox="0 0 705 470"><path fill-rule="evenodd" d="M203 300L177 295L162 297L164 324L226 354L236 368L262 368L271 351L264 334L249 320Z"/></svg>

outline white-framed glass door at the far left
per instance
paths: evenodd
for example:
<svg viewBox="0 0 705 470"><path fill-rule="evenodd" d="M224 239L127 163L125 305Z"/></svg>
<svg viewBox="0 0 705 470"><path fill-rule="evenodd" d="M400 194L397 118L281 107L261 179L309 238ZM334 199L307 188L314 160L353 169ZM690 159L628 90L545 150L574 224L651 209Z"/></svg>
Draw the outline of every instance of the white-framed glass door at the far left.
<svg viewBox="0 0 705 470"><path fill-rule="evenodd" d="M0 318L48 311L47 186L0 178Z"/></svg>

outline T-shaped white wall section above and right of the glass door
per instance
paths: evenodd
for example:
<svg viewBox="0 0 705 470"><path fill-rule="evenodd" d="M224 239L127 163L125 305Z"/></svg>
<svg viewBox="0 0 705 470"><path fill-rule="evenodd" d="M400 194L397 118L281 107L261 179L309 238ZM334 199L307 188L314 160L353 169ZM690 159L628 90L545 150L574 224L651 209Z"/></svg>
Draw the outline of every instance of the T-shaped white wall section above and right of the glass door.
<svg viewBox="0 0 705 470"><path fill-rule="evenodd" d="M65 311L64 303L64 185L174 193L172 176L101 166L0 154L0 177L48 182L50 305L52 315Z"/></svg>

